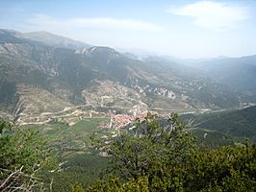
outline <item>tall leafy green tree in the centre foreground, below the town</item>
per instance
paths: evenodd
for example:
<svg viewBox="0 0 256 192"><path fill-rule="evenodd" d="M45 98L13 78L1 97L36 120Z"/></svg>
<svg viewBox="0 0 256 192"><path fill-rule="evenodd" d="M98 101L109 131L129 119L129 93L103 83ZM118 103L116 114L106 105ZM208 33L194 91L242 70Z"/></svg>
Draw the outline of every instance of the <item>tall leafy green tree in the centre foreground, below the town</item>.
<svg viewBox="0 0 256 192"><path fill-rule="evenodd" d="M124 180L148 179L153 187L159 176L164 180L169 167L186 162L193 150L193 138L184 124L171 113L165 126L157 115L148 113L136 126L115 139L96 140L96 147L110 156L109 171ZM166 164L167 162L167 164Z"/></svg>

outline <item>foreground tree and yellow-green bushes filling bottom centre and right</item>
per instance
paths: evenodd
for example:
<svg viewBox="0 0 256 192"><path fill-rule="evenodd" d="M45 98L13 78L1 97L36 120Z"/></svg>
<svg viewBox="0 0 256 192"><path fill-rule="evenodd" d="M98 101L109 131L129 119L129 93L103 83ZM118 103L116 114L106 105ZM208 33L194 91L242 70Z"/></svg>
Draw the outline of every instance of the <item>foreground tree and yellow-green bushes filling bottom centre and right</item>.
<svg viewBox="0 0 256 192"><path fill-rule="evenodd" d="M133 130L105 140L107 146L98 144L112 159L112 175L88 191L256 190L255 144L196 147L176 114L169 122L163 127L149 113Z"/></svg>

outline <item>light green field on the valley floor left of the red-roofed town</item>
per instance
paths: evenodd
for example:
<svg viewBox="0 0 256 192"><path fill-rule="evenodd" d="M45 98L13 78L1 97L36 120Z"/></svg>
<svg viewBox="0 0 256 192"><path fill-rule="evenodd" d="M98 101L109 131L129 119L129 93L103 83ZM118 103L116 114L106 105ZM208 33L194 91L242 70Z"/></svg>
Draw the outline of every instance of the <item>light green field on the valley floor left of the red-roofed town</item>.
<svg viewBox="0 0 256 192"><path fill-rule="evenodd" d="M27 126L27 128L37 130L48 144L54 145L60 153L66 155L70 152L88 152L90 135L94 132L101 134L109 132L100 126L108 121L108 117L95 117L82 119L73 126L56 122L42 126Z"/></svg>

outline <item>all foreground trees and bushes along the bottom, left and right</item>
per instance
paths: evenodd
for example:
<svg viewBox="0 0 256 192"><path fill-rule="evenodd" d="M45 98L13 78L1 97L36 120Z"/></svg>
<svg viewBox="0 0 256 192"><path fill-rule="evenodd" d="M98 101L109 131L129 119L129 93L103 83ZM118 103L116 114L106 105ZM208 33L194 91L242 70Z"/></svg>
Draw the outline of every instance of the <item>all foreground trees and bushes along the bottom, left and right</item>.
<svg viewBox="0 0 256 192"><path fill-rule="evenodd" d="M1 191L60 191L68 177L58 153L37 132L20 131L3 120L0 131ZM176 113L165 124L148 113L115 137L92 135L91 143L93 153L78 160L88 172L73 170L74 180L64 191L256 190L255 144L200 145ZM75 179L80 171L92 174L96 164L104 171L94 180L85 176L90 182L84 184Z"/></svg>

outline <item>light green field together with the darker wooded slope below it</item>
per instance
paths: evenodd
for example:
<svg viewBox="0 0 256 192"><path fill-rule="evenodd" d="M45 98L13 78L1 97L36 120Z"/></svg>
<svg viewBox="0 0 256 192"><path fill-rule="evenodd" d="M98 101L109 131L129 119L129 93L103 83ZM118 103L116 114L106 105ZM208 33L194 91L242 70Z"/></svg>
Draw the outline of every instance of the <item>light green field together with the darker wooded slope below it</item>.
<svg viewBox="0 0 256 192"><path fill-rule="evenodd" d="M108 117L95 117L83 119L73 126L57 122L43 126L26 126L26 128L37 130L54 147L59 155L60 162L65 162L62 172L53 175L53 191L68 191L70 184L79 182L88 186L107 167L106 157L98 156L90 150L90 136L92 133L104 135L115 130L102 128L103 123L109 122Z"/></svg>

